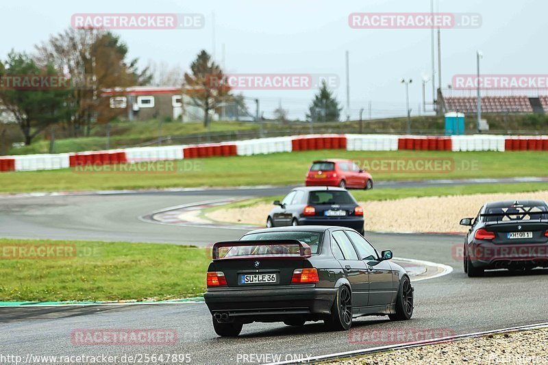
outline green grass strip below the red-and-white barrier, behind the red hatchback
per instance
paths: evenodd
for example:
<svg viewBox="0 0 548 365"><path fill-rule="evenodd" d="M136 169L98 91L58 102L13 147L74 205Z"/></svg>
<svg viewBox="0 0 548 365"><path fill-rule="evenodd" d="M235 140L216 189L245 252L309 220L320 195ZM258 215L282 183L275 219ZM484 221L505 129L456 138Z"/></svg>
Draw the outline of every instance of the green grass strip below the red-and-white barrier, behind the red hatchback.
<svg viewBox="0 0 548 365"><path fill-rule="evenodd" d="M373 160L441 160L451 170L431 172L375 172L376 181L547 176L548 153L451 151L324 150L271 155L203 158L175 162L173 168L140 172L36 171L1 173L0 192L77 191L178 188L195 186L256 186L303 184L310 162L321 158L349 158L364 166Z"/></svg>

